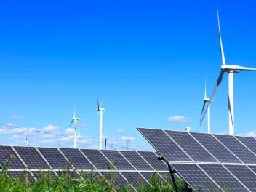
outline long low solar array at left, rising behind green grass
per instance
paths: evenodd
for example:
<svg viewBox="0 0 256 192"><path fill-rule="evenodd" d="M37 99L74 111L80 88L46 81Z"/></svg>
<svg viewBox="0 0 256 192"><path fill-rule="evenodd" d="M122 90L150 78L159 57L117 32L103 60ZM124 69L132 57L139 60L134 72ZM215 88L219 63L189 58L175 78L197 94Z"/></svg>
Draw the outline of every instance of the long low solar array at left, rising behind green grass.
<svg viewBox="0 0 256 192"><path fill-rule="evenodd" d="M150 175L159 172L164 179L168 175L167 164L158 160L152 151L112 151L77 148L37 148L20 146L0 146L0 166L10 160L7 175L41 178L41 172L50 172L53 177L65 174L80 177L102 175L108 183L114 178L117 187L138 188L149 182ZM28 167L28 170L25 170ZM156 173L158 174L158 173ZM176 176L177 177L177 176Z"/></svg>

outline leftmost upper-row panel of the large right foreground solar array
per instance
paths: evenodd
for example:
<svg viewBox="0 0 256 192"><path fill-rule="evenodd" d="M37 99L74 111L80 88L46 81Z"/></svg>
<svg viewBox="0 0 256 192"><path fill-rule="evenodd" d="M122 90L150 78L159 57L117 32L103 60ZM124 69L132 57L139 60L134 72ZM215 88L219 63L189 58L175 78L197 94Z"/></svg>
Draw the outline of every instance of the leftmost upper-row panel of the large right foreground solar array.
<svg viewBox="0 0 256 192"><path fill-rule="evenodd" d="M191 161L191 159L161 129L137 128L167 161Z"/></svg>

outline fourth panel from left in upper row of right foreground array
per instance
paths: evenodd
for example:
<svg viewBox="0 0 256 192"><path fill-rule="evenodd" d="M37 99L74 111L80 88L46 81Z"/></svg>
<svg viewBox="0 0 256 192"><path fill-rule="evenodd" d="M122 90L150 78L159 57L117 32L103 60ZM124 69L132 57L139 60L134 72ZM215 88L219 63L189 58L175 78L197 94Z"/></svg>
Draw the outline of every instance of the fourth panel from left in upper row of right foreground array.
<svg viewBox="0 0 256 192"><path fill-rule="evenodd" d="M214 135L245 164L256 164L256 156L230 135Z"/></svg>

